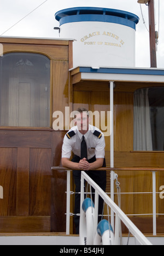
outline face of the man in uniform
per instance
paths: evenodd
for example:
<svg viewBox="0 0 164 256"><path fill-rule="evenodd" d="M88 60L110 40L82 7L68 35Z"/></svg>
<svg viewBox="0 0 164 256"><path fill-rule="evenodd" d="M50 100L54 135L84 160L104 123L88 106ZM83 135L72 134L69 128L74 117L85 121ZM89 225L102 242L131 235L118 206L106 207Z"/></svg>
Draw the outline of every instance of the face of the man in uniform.
<svg viewBox="0 0 164 256"><path fill-rule="evenodd" d="M77 123L78 130L87 132L89 129L89 117L86 112L78 113L75 122Z"/></svg>

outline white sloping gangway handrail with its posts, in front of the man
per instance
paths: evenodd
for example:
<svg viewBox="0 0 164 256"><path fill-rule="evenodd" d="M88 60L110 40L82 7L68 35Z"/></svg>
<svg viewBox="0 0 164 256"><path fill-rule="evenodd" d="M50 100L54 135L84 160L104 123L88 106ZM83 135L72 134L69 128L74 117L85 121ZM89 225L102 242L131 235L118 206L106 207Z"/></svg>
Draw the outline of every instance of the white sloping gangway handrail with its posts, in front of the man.
<svg viewBox="0 0 164 256"><path fill-rule="evenodd" d="M94 219L94 234L97 231L98 225L98 196L101 196L104 202L110 207L115 214L115 241L114 245L120 245L120 220L126 225L130 233L137 239L141 245L152 245L150 241L139 231L139 229L131 222L124 212L110 199L110 197L84 172L81 172L81 206L84 201L84 180L95 189L95 219Z"/></svg>

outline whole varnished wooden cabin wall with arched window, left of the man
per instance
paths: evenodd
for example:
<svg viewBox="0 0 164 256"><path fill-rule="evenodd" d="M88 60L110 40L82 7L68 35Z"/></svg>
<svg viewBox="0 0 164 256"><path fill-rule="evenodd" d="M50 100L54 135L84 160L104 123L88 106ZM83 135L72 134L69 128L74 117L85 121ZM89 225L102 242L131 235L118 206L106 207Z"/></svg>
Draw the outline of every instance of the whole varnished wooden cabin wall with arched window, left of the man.
<svg viewBox="0 0 164 256"><path fill-rule="evenodd" d="M52 130L52 112L65 108L63 100L68 105L72 46L45 39L4 39L3 43L4 56L12 51L11 55L43 53L48 61L43 72L23 58L24 63L21 58L14 62L11 72L8 63L1 72L0 233L65 232L66 173L56 172L53 177L51 166L60 165L66 131Z"/></svg>

